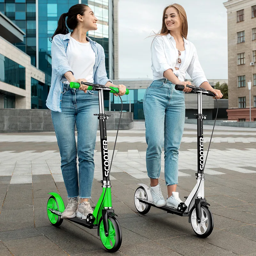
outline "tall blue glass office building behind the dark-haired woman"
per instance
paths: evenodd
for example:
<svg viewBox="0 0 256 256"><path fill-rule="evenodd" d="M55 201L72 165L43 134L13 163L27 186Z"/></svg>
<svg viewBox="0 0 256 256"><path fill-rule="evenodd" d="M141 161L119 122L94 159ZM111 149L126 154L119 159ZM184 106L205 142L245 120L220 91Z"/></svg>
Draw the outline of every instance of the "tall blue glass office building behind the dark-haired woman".
<svg viewBox="0 0 256 256"><path fill-rule="evenodd" d="M68 12L72 5L81 3L89 5L98 18L98 29L89 31L88 36L103 46L109 75L108 0L0 0L0 12L26 33L24 42L15 46L26 52L31 57L31 64L45 73L45 84L34 80L31 82L31 108L47 108L45 101L51 86L52 74L52 43L49 38L57 28L60 15Z"/></svg>

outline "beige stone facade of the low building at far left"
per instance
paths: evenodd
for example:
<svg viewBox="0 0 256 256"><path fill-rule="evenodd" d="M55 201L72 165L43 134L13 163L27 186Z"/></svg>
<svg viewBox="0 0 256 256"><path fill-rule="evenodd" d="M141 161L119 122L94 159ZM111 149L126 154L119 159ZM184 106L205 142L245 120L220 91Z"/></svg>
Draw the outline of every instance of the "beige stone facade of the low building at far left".
<svg viewBox="0 0 256 256"><path fill-rule="evenodd" d="M25 67L25 72L26 72L25 74L26 90L13 86L11 84L6 84L4 82L0 82L0 90L15 94L15 108L30 109L31 108L31 77L44 83L45 82L44 72L40 71L39 69L31 65L31 60L29 55L27 55L25 52L22 52L19 48L9 43L1 36L0 36L0 45L1 45L0 54L4 55L5 57ZM3 104L3 100L1 101L2 102L0 102L0 106L2 106Z"/></svg>

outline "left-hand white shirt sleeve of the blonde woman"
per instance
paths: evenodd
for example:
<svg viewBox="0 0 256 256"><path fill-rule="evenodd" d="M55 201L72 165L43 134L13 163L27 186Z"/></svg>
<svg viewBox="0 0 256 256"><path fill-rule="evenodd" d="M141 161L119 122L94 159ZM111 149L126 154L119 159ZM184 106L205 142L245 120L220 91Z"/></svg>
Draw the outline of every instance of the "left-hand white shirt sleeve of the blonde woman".
<svg viewBox="0 0 256 256"><path fill-rule="evenodd" d="M152 58L152 66L156 70L159 75L163 76L164 71L168 69L172 69L166 60L165 52L164 52L164 42L161 36L157 36L154 38L151 45L151 58Z"/></svg>

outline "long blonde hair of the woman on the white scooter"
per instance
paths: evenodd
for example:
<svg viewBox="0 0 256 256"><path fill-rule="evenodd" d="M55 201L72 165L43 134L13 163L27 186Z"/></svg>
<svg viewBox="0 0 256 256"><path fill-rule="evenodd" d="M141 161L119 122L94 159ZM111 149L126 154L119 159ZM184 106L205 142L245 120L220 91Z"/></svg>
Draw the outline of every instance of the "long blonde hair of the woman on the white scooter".
<svg viewBox="0 0 256 256"><path fill-rule="evenodd" d="M169 30L166 28L166 25L165 25L165 22L164 22L164 20L165 20L164 15L165 15L166 10L170 7L173 7L177 10L178 15L180 16L180 20L181 20L181 36L183 36L185 39L187 39L187 36L188 36L187 14L186 14L185 9L180 4L171 4L171 5L168 5L164 8L161 31L158 34L154 35L154 36L164 36L164 35L167 35L169 33Z"/></svg>

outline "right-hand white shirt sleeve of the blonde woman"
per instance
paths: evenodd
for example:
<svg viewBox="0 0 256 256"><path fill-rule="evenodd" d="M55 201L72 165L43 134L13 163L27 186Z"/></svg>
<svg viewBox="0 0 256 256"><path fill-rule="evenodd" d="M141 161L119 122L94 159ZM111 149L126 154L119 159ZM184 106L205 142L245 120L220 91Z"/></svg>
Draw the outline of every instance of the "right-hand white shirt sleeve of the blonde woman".
<svg viewBox="0 0 256 256"><path fill-rule="evenodd" d="M188 75L191 77L192 81L196 84L196 87L199 87L202 83L208 82L208 80L206 79L204 71L198 60L198 55L195 46L193 47L193 51L193 57L188 66L187 72Z"/></svg>

